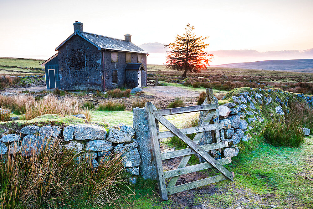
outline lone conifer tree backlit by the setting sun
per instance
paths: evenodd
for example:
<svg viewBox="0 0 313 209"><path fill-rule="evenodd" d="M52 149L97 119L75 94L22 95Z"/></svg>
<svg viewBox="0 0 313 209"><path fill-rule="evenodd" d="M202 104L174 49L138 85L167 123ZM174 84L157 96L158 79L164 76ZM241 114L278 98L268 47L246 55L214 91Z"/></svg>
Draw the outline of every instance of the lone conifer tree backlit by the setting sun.
<svg viewBox="0 0 313 209"><path fill-rule="evenodd" d="M194 27L189 23L185 29L183 36L177 34L175 42L166 45L171 49L167 52L166 68L184 71L183 78L186 78L187 72L198 73L201 69L206 69L213 59L213 54L205 51L209 44L203 41L208 37L197 38L195 33L192 33Z"/></svg>

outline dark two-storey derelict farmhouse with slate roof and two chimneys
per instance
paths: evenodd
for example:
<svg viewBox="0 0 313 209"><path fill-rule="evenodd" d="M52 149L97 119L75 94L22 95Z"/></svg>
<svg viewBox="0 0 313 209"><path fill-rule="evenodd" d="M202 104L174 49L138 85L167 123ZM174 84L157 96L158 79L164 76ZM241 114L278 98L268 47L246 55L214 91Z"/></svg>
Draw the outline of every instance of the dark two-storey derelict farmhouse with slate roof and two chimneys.
<svg viewBox="0 0 313 209"><path fill-rule="evenodd" d="M100 90L146 86L148 53L125 39L83 31L75 22L74 33L55 50L57 54L41 65L47 89Z"/></svg>

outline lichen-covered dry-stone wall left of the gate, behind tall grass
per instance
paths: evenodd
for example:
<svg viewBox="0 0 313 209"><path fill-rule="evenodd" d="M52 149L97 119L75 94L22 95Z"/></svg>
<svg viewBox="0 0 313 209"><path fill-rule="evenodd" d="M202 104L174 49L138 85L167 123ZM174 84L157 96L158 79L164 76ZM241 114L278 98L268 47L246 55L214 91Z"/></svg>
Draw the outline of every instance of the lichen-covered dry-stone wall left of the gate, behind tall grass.
<svg viewBox="0 0 313 209"><path fill-rule="evenodd" d="M92 158L95 167L99 166L101 158L111 152L123 152L124 167L133 175L130 175L130 180L136 181L136 176L139 175L141 158L137 148L138 142L135 139L135 130L122 123L107 129L92 124L69 125L63 128L50 125L42 127L28 125L17 133L6 134L0 138L0 154L4 159L8 151L28 156L33 151L39 152L48 140L56 138L60 139L61 149L70 150L74 154L83 154L86 156L85 159Z"/></svg>

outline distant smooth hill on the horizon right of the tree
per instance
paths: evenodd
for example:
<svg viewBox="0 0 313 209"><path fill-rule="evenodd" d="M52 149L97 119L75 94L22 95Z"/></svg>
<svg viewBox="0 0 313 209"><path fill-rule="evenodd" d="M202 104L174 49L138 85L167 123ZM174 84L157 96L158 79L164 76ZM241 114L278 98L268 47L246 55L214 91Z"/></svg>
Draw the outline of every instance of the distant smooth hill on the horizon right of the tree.
<svg viewBox="0 0 313 209"><path fill-rule="evenodd" d="M257 70L279 70L302 73L313 73L313 59L264 60L213 65L212 67L245 68Z"/></svg>

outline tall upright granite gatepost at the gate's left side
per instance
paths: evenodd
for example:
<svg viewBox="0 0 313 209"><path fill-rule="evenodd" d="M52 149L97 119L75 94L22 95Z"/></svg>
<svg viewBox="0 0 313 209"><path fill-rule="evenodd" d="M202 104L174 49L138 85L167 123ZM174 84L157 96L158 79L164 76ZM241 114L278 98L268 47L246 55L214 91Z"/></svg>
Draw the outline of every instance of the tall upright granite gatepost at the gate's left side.
<svg viewBox="0 0 313 209"><path fill-rule="evenodd" d="M153 110L156 110L155 106L153 106ZM158 129L158 123L156 123L156 126ZM139 166L140 174L144 179L156 179L156 167L152 153L146 107L134 108L133 127L136 131L136 140L138 142L138 150L141 158L141 164Z"/></svg>

